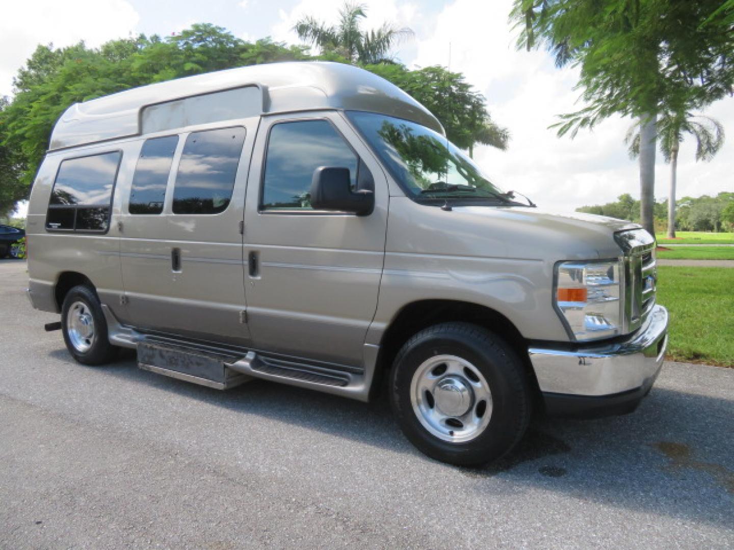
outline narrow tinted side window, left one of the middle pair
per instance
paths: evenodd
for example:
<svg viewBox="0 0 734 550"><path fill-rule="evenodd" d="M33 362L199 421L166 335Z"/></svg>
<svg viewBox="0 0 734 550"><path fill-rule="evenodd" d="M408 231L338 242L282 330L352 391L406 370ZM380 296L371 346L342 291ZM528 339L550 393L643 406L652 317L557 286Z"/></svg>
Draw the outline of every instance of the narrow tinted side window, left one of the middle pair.
<svg viewBox="0 0 734 550"><path fill-rule="evenodd" d="M131 214L159 214L163 211L168 174L178 136L145 140L130 189Z"/></svg>

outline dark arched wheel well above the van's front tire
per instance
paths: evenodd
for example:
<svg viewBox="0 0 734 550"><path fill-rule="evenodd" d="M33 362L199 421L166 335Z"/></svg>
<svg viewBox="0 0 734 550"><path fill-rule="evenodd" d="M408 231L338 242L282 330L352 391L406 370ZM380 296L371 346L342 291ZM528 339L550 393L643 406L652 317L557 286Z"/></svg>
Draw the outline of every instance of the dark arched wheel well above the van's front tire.
<svg viewBox="0 0 734 550"><path fill-rule="evenodd" d="M540 389L528 356L526 340L515 325L504 315L489 307L452 300L418 301L400 310L382 336L375 373L378 383L373 384L373 391L379 391L382 388L393 366L395 356L413 334L429 326L448 321L474 323L502 337L515 349L517 356L523 362L531 391L534 397L539 399Z"/></svg>

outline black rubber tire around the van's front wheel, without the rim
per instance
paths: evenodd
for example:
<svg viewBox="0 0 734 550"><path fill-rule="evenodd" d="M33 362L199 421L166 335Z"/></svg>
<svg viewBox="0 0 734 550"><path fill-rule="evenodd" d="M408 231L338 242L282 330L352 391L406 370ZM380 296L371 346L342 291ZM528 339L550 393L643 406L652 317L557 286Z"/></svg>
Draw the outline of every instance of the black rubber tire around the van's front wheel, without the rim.
<svg viewBox="0 0 734 550"><path fill-rule="evenodd" d="M413 376L421 365L442 355L469 362L490 389L488 424L477 428L470 441L440 439L421 423L420 412L413 408ZM501 458L522 439L531 417L531 392L523 362L496 334L470 323L442 323L410 338L393 364L390 403L403 433L415 447L431 458L457 466L479 466Z"/></svg>

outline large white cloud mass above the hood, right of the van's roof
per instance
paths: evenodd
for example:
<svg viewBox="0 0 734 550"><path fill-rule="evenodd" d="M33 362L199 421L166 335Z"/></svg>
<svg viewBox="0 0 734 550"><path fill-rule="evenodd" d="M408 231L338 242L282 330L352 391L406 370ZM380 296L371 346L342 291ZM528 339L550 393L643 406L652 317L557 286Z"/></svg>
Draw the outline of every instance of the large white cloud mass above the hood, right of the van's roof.
<svg viewBox="0 0 734 550"><path fill-rule="evenodd" d="M438 15L432 34L418 41L415 65L448 65L465 74L486 97L493 118L512 132L507 152L479 147L475 158L503 188L532 197L541 207L572 211L609 202L619 194L639 197L639 171L623 139L630 120L614 117L575 139L557 138L548 126L557 115L578 109L573 89L577 71L559 70L544 51L516 51L509 26L511 0L456 0ZM734 125L734 100L709 114ZM678 169L678 197L734 191L734 139L710 164L694 162L694 145L684 142ZM658 155L656 197L667 197L669 167Z"/></svg>

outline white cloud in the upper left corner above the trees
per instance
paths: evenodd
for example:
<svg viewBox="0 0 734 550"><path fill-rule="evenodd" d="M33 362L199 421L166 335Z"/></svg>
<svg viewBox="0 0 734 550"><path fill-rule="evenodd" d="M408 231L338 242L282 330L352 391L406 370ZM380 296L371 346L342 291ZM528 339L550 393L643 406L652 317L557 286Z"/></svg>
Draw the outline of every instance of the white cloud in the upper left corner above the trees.
<svg viewBox="0 0 734 550"><path fill-rule="evenodd" d="M100 45L134 32L139 16L126 0L21 0L3 7L0 18L0 95L38 44L56 47L84 40Z"/></svg>

